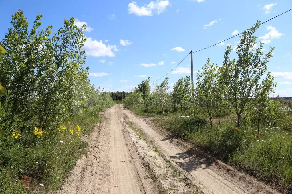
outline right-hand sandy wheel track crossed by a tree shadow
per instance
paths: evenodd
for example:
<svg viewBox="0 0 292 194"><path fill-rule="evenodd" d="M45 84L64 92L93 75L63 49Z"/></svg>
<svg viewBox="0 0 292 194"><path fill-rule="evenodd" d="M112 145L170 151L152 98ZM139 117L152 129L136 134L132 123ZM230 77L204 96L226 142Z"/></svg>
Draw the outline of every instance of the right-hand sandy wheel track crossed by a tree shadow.
<svg viewBox="0 0 292 194"><path fill-rule="evenodd" d="M145 121L135 116L131 111L123 108L123 106L121 106L121 108L127 117L148 134L166 156L186 170L190 176L194 177L195 184L197 184L197 186L200 185L204 193L278 193L270 187L242 173L234 171L234 173L230 174L227 170L230 170L231 167L218 169L215 165L206 165L202 163L199 159L196 159L196 156L188 154L186 150L182 150L180 147L171 143L168 138L165 138L152 129Z"/></svg>

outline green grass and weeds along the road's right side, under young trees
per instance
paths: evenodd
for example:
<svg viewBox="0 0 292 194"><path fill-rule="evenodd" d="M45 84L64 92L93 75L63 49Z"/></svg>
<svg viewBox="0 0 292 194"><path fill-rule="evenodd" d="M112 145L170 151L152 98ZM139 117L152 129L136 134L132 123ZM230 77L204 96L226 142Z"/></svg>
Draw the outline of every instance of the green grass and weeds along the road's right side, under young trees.
<svg viewBox="0 0 292 194"><path fill-rule="evenodd" d="M143 108L131 110L136 113ZM148 116L155 116L156 110L154 108L153 111L147 112ZM177 138L191 141L194 146L261 181L281 185L284 191L292 192L291 116L283 117L284 119L277 123L278 127L261 127L260 133L255 135L256 127L252 128L250 124L246 124L237 129L229 117L221 118L221 126L214 123L210 129L207 119L177 115L171 113L171 116L166 118L157 115L155 123L171 131Z"/></svg>

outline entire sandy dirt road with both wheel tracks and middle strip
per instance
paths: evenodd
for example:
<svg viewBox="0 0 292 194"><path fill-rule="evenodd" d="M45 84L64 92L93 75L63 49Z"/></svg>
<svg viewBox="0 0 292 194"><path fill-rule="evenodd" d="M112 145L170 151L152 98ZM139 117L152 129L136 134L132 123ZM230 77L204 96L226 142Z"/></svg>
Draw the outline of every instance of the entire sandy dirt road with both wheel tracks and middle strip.
<svg viewBox="0 0 292 194"><path fill-rule="evenodd" d="M191 154L122 105L104 116L108 119L85 139L87 156L77 162L59 194L194 193L197 187L205 194L278 193L223 163L207 163Z"/></svg>

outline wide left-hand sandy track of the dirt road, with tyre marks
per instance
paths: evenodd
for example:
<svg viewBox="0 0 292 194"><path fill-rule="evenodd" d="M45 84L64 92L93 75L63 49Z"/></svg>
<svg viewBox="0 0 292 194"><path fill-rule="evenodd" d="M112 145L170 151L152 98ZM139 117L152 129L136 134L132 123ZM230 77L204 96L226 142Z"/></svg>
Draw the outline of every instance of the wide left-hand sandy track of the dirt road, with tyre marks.
<svg viewBox="0 0 292 194"><path fill-rule="evenodd" d="M123 118L118 117L116 108L117 105L104 113L108 119L91 134L87 156L77 162L59 194L140 194L146 193L144 186L150 190L141 161L131 142L126 142Z"/></svg>

